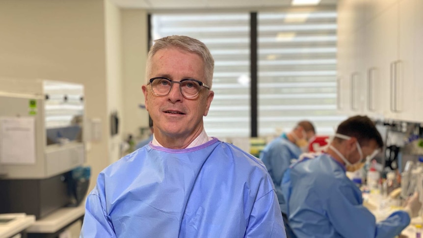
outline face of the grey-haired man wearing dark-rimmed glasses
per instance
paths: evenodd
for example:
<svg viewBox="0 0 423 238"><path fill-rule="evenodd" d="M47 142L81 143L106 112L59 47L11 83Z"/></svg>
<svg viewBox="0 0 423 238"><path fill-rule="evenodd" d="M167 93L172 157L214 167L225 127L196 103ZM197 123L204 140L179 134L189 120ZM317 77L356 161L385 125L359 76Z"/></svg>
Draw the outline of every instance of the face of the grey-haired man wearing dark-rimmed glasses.
<svg viewBox="0 0 423 238"><path fill-rule="evenodd" d="M165 77L181 81L190 78L206 83L204 62L195 53L175 48L162 49L153 56L151 64L149 79ZM166 96L154 94L151 85L143 85L142 91L146 109L154 121L156 139L163 146L169 140L190 143L202 132L203 116L207 116L209 112L213 91L201 87L196 97L185 98L178 83L172 84L171 91Z"/></svg>

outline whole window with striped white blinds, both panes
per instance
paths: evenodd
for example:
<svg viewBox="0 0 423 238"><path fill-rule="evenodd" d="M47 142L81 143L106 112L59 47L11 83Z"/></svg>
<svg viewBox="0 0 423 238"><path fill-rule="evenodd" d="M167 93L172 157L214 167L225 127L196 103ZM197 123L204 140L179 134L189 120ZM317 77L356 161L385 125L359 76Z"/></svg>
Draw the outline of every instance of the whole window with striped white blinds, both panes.
<svg viewBox="0 0 423 238"><path fill-rule="evenodd" d="M154 13L153 40L188 35L210 49L214 99L204 125L210 136L248 137L288 131L303 119L332 134L336 111L336 8L259 12L258 125L251 125L250 13ZM253 85L255 87L255 85Z"/></svg>

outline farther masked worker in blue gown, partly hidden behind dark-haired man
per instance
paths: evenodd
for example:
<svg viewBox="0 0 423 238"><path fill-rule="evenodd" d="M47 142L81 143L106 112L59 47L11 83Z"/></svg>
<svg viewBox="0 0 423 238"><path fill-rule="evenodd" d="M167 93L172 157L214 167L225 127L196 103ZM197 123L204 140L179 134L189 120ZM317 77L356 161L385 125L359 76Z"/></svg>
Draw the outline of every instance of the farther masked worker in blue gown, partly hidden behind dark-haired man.
<svg viewBox="0 0 423 238"><path fill-rule="evenodd" d="M298 159L301 153L308 147L308 141L315 136L316 130L310 121L300 121L289 133L273 139L260 152L260 159L266 166L276 188L276 195L280 204L284 204L284 198L280 190L282 176L291 164L291 160ZM291 229L284 216L285 230L289 237Z"/></svg>

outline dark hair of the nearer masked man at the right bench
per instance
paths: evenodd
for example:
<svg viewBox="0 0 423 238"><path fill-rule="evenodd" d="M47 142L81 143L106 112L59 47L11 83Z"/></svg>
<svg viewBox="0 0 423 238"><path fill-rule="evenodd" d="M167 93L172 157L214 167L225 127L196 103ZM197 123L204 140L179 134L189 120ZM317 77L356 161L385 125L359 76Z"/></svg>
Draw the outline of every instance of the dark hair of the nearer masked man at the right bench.
<svg viewBox="0 0 423 238"><path fill-rule="evenodd" d="M353 116L346 119L338 126L336 132L357 138L360 145L375 140L379 148L383 147L382 136L367 116Z"/></svg>

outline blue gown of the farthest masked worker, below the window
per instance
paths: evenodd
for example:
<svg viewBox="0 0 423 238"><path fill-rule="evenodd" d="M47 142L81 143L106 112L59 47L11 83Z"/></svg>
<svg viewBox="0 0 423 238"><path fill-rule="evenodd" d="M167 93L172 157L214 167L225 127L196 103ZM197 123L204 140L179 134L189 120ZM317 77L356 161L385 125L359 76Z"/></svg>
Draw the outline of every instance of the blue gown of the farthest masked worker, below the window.
<svg viewBox="0 0 423 238"><path fill-rule="evenodd" d="M281 204L284 203L284 198L280 190L282 176L290 166L291 159L298 159L301 153L301 149L292 143L285 133L272 140L260 153L260 159L263 161L272 178L276 195Z"/></svg>

